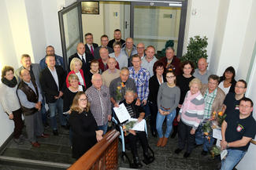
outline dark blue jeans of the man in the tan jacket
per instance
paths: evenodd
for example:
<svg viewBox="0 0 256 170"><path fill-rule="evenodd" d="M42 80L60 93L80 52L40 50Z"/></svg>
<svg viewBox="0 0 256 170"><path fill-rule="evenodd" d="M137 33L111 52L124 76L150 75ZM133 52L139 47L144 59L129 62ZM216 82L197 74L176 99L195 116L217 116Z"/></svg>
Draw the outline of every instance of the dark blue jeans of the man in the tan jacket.
<svg viewBox="0 0 256 170"><path fill-rule="evenodd" d="M202 150L208 151L211 149L214 143L214 138L211 135L210 136L210 142L208 139L206 139L205 136L202 135L202 125L198 126L197 131L195 132L195 143L197 145L202 145Z"/></svg>

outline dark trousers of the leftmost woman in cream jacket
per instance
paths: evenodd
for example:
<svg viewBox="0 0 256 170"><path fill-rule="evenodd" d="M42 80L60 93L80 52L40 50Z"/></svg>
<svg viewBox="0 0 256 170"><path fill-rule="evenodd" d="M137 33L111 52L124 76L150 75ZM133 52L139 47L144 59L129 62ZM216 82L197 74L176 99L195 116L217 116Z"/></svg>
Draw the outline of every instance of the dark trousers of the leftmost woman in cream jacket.
<svg viewBox="0 0 256 170"><path fill-rule="evenodd" d="M22 128L24 127L24 123L21 117L22 111L21 109L13 111L13 121L14 121L14 138L18 139L21 135Z"/></svg>

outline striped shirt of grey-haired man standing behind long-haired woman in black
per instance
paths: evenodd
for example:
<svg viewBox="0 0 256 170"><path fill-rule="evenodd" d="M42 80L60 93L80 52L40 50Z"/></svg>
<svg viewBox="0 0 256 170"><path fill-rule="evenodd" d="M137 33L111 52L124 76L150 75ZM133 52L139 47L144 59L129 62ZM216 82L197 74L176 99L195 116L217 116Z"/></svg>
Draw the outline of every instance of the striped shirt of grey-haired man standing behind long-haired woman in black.
<svg viewBox="0 0 256 170"><path fill-rule="evenodd" d="M93 114L97 125L106 125L108 122L108 115L111 115L111 103L109 88L106 85L102 85L101 89L95 89L94 85L91 85L85 92L88 102L91 103L91 113Z"/></svg>

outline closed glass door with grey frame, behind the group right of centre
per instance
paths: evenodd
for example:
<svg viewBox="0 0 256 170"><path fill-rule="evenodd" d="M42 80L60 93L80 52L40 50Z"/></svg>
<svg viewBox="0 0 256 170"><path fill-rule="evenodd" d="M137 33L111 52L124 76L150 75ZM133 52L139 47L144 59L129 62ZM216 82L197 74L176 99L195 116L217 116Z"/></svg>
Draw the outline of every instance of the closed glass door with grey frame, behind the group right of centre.
<svg viewBox="0 0 256 170"><path fill-rule="evenodd" d="M176 56L182 55L187 1L184 2L132 2L131 37L134 43L154 45L158 53L173 40ZM161 56L161 55L160 55Z"/></svg>

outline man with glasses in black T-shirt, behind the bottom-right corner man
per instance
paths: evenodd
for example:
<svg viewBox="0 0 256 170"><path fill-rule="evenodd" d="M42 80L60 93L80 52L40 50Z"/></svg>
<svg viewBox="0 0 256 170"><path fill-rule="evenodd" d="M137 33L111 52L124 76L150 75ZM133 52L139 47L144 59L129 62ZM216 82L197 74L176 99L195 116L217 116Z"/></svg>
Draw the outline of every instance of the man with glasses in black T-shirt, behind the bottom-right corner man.
<svg viewBox="0 0 256 170"><path fill-rule="evenodd" d="M243 99L245 92L247 92L247 82L244 80L237 81L235 93L228 92L224 99L222 112L224 114L232 114L235 110L239 110L239 103L240 100Z"/></svg>

